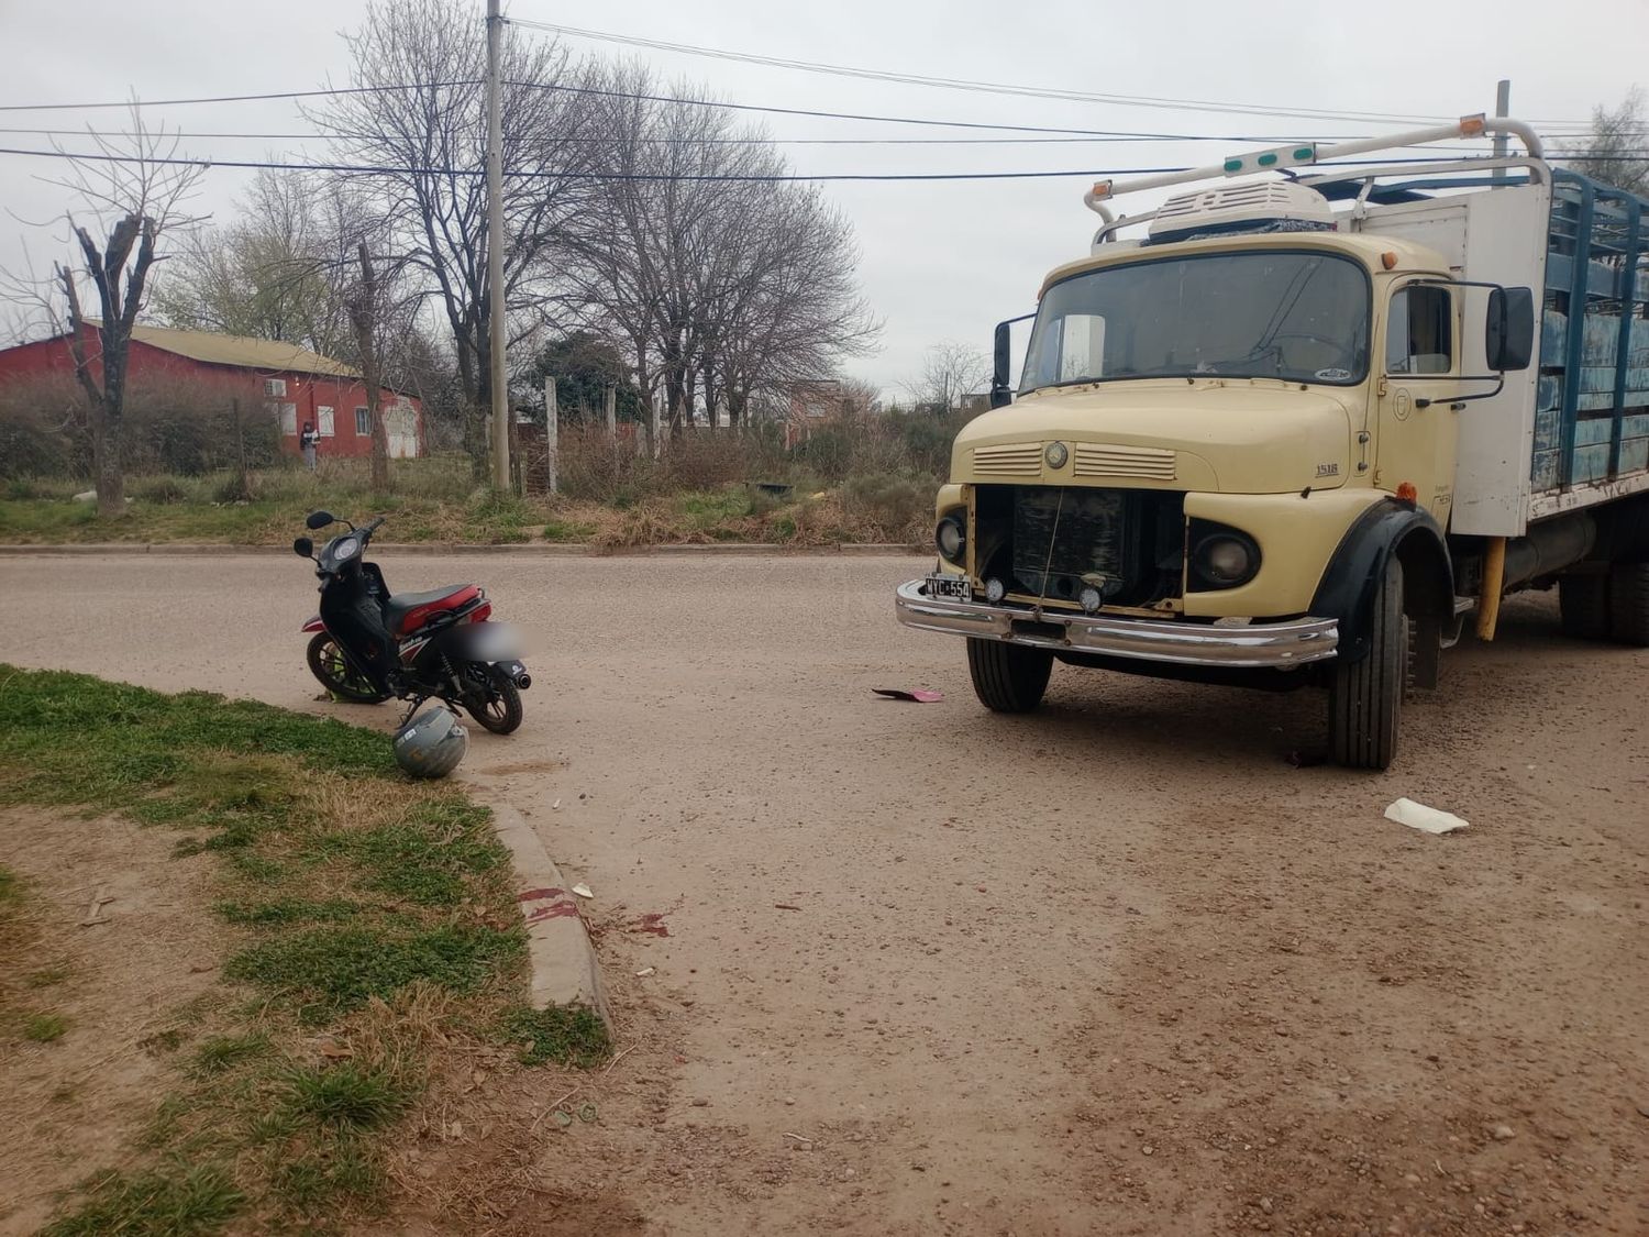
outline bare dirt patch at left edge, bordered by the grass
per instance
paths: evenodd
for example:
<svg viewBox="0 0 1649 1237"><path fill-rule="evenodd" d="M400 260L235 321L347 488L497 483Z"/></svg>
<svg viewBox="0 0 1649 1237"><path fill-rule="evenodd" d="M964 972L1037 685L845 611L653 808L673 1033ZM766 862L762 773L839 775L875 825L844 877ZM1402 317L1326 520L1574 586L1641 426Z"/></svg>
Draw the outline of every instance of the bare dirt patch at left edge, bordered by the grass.
<svg viewBox="0 0 1649 1237"><path fill-rule="evenodd" d="M0 863L26 891L0 952L0 1234L35 1232L58 1191L120 1163L167 1090L180 1018L216 978L211 858L171 844L125 820L0 810ZM68 1029L30 1042L26 1014Z"/></svg>

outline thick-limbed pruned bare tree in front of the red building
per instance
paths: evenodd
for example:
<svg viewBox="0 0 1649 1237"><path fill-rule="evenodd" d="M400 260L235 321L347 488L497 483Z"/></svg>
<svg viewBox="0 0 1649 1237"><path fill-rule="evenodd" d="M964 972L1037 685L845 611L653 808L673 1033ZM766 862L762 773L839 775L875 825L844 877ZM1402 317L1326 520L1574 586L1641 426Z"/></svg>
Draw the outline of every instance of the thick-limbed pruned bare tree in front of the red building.
<svg viewBox="0 0 1649 1237"><path fill-rule="evenodd" d="M63 294L74 379L87 401L97 513L119 516L125 513L122 430L132 327L167 241L198 223L183 206L206 165L170 162L178 158L176 135L148 129L135 104L129 135L92 134L91 140L96 155L71 158L68 176L51 181L78 203L64 214L78 256L53 266L51 287ZM21 290L12 282L13 292ZM91 284L97 317L82 308L82 282ZM49 297L38 285L33 295Z"/></svg>

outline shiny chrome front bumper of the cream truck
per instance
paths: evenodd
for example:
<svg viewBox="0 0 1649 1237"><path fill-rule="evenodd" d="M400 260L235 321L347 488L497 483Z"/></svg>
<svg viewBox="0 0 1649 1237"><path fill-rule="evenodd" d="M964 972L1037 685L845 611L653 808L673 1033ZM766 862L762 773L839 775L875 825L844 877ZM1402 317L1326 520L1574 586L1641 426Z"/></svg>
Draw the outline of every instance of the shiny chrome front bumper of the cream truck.
<svg viewBox="0 0 1649 1237"><path fill-rule="evenodd" d="M894 610L905 627L947 632L976 640L1008 640L1069 653L1174 661L1186 666L1258 666L1288 670L1334 656L1339 623L1334 618L1291 618L1285 623L1212 627L1149 618L1042 610L1017 605L958 602L928 597L922 581L899 586ZM1057 628L1057 632L1054 630Z"/></svg>

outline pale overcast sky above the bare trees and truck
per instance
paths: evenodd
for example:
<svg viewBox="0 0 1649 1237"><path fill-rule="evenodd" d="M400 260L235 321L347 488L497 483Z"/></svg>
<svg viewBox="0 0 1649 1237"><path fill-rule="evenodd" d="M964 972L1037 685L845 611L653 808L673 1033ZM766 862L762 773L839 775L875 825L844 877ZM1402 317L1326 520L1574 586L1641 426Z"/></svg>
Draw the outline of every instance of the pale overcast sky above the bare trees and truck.
<svg viewBox="0 0 1649 1237"><path fill-rule="evenodd" d="M452 3L485 10L485 0ZM167 99L348 84L350 58L340 33L356 26L363 12L364 0L0 0L0 46L8 53L0 109L119 101L132 92ZM983 353L998 320L1034 308L1042 275L1087 252L1095 216L1083 208L1082 193L1097 176L1212 163L1273 145L1273 139L1375 135L1423 124L1412 117L1492 112L1501 78L1512 81L1512 115L1547 132L1576 132L1595 106L1618 104L1649 78L1636 54L1649 46L1649 3L1586 0L1585 12L1595 38L1571 33L1558 7L1529 0L1385 0L1377 7L1321 0L1039 0L1022 7L981 0L630 0L577 10L552 0L505 0L506 16L608 35L975 84L1199 104L940 89L564 36L576 53L638 56L739 104L1215 139L787 145L792 167L810 175L1072 172L1036 180L824 186L854 223L862 251L859 279L884 322L879 350L844 368L889 394L920 371L932 345L955 340ZM1606 48L1634 54L1611 56ZM1227 114L1200 106L1210 102L1397 119ZM145 114L185 134L307 129L290 101L155 107ZM0 111L5 130L84 132L86 125L119 127L120 120L119 109ZM787 140L1009 137L788 115L767 117L765 125L772 137ZM68 148L86 145L73 135L56 140ZM49 142L38 134L0 132L0 147L48 148ZM221 158L303 160L322 153L318 142L294 140L185 139L183 148ZM45 272L66 252L61 218L71 198L45 180L53 173L45 160L0 155L0 270L16 272L31 261ZM246 175L214 170L196 208L219 219L233 214ZM35 226L53 219L59 223Z"/></svg>

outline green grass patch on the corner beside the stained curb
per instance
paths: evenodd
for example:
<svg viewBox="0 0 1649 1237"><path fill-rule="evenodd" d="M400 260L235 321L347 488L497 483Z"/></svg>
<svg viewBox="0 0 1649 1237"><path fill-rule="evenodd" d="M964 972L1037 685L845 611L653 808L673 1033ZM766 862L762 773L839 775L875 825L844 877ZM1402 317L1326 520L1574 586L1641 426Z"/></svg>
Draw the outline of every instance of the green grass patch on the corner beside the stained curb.
<svg viewBox="0 0 1649 1237"><path fill-rule="evenodd" d="M178 856L218 856L231 986L143 1041L171 1089L124 1171L84 1181L48 1232L328 1227L383 1197L384 1140L450 1036L528 1064L605 1056L594 1014L521 1011L524 930L491 816L455 783L402 778L384 736L5 665L0 706L0 805L124 811L173 831ZM0 868L0 925L20 889ZM417 1037L432 1018L445 1029ZM23 1034L66 1028L35 1014ZM317 1064L318 1031L351 1059Z"/></svg>

